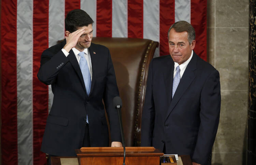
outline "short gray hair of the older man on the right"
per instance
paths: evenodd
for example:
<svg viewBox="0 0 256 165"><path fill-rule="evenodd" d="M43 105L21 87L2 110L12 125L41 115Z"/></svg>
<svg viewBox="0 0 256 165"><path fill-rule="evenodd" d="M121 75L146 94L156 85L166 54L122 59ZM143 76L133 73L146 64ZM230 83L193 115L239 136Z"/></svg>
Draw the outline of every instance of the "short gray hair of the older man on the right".
<svg viewBox="0 0 256 165"><path fill-rule="evenodd" d="M169 33L171 29L174 29L176 32L187 32L188 33L188 42L189 44L192 43L193 40L196 39L196 32L193 26L188 23L187 21L178 21L171 25L170 29L168 30L168 40L169 40Z"/></svg>

